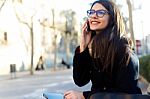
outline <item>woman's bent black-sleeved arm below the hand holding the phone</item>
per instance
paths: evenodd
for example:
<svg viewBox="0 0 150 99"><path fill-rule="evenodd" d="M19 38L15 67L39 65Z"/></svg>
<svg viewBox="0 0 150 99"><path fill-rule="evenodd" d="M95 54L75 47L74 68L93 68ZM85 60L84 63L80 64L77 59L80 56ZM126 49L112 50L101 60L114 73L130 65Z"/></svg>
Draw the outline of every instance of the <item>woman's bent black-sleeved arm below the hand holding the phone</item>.
<svg viewBox="0 0 150 99"><path fill-rule="evenodd" d="M73 79L76 85L81 87L90 81L91 62L88 48L80 53L77 47L73 59Z"/></svg>

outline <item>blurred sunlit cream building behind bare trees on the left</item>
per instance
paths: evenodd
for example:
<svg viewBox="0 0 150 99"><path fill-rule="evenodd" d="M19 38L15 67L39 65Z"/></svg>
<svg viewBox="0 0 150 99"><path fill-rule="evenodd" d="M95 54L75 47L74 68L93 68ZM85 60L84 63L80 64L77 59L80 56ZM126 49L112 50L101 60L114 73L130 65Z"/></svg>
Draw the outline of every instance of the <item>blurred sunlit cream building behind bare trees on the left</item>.
<svg viewBox="0 0 150 99"><path fill-rule="evenodd" d="M60 16L60 12L69 9L55 7L55 0L2 0L0 3L3 1L6 2L0 11L0 75L8 74L11 64L16 64L17 71L30 69L31 30L34 36L33 69L41 55L47 67L54 65L55 58L57 65L62 59L67 60L65 48L68 48L69 64L72 63L72 53L78 41L72 36L76 34L71 34L68 39L62 35L66 19ZM73 32L80 34L78 13L74 16L77 20Z"/></svg>

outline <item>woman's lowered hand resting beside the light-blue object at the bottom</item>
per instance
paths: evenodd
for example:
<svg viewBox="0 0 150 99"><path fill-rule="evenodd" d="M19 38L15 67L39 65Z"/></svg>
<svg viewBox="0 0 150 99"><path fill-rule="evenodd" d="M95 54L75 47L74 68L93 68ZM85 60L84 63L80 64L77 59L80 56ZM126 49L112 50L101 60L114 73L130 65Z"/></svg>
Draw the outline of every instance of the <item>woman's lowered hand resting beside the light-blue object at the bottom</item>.
<svg viewBox="0 0 150 99"><path fill-rule="evenodd" d="M64 99L85 99L82 92L67 91L64 93Z"/></svg>

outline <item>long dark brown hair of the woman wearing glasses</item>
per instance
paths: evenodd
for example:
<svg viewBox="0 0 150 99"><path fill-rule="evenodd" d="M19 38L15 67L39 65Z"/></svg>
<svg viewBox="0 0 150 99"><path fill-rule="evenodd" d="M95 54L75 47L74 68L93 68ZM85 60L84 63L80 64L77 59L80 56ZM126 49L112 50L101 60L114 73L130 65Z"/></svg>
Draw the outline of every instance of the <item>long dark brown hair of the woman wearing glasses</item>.
<svg viewBox="0 0 150 99"><path fill-rule="evenodd" d="M92 57L95 66L111 73L116 59L118 64L125 65L129 58L129 39L126 36L123 18L116 5L109 0L95 1L102 4L109 12L108 26L93 37ZM94 32L94 31L93 31Z"/></svg>

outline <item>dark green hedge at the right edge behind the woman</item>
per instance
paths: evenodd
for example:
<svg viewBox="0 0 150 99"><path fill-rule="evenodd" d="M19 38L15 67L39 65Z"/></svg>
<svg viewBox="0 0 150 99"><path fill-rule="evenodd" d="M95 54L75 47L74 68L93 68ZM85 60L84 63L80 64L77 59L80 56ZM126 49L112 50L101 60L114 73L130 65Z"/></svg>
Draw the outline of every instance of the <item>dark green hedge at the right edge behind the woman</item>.
<svg viewBox="0 0 150 99"><path fill-rule="evenodd" d="M150 55L139 58L140 61L140 74L150 82Z"/></svg>

